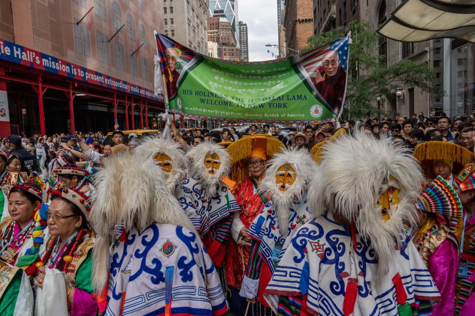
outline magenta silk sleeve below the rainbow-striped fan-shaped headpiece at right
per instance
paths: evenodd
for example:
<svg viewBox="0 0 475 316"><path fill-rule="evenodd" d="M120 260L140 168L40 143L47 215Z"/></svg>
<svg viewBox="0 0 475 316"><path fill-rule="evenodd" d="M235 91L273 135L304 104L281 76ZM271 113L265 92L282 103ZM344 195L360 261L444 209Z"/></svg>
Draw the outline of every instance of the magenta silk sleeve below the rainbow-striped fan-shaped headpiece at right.
<svg viewBox="0 0 475 316"><path fill-rule="evenodd" d="M456 246L448 238L442 241L430 256L428 269L442 297L440 302L432 306L434 316L454 315L458 258Z"/></svg>

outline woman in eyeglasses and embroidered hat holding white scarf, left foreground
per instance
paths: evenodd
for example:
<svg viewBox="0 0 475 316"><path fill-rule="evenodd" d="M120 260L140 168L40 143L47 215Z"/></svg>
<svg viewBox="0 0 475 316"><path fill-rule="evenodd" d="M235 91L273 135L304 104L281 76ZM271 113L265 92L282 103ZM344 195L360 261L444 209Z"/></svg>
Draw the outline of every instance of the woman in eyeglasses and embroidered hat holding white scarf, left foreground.
<svg viewBox="0 0 475 316"><path fill-rule="evenodd" d="M97 303L92 296L94 239L88 224L90 210L88 197L78 190L63 187L54 189L47 212L42 213L42 218L47 219L50 234L45 254L27 269L31 272L31 268L36 268L32 273L34 289L43 289L43 297L52 295L48 290L55 289L57 306L54 309L56 312L63 311L64 315L97 314ZM63 277L58 279L49 271L47 273L46 269L64 272L66 282Z"/></svg>

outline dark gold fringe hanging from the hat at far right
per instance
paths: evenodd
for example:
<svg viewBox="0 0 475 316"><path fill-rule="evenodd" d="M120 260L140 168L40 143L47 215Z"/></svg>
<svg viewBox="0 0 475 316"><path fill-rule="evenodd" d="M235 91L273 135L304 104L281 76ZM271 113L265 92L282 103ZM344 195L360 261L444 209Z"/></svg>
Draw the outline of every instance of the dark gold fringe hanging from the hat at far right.
<svg viewBox="0 0 475 316"><path fill-rule="evenodd" d="M418 145L413 156L421 162L424 175L428 179L435 177L433 171L434 160L453 161L452 173L456 175L467 163L474 159L474 153L468 149L453 143L440 141L430 141Z"/></svg>

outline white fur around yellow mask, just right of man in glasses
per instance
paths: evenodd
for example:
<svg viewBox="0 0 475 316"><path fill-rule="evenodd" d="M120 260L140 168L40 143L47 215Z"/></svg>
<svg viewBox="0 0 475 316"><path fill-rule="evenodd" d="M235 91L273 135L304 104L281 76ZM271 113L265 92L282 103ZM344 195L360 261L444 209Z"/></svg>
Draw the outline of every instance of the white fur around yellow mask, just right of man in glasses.
<svg viewBox="0 0 475 316"><path fill-rule="evenodd" d="M291 186L287 186L285 192L282 192L279 190L280 185L276 184L276 174L285 163L290 164L295 169L296 178L295 182ZM287 235L290 206L294 202L300 202L303 196L306 195L316 167L317 164L308 151L296 149L285 149L281 153L275 154L268 161L259 191L271 195L272 203L277 212L279 229L283 236Z"/></svg>

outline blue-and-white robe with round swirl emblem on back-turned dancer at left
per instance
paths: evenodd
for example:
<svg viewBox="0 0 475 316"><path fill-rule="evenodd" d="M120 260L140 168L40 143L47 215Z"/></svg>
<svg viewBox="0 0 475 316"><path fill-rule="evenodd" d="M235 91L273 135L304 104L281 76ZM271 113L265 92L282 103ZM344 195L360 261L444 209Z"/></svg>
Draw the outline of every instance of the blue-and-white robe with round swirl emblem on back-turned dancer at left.
<svg viewBox="0 0 475 316"><path fill-rule="evenodd" d="M218 274L201 239L169 224L136 228L110 249L108 305L105 316L219 316L226 300ZM123 309L122 309L122 304Z"/></svg>

